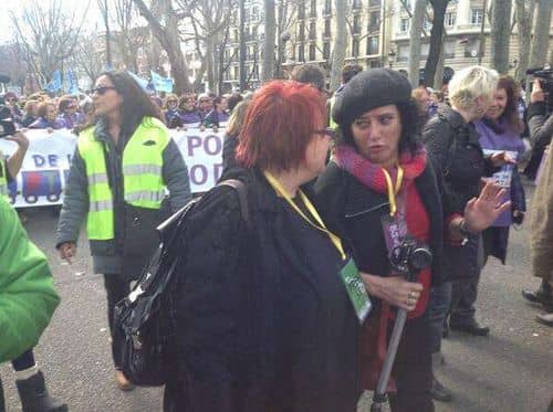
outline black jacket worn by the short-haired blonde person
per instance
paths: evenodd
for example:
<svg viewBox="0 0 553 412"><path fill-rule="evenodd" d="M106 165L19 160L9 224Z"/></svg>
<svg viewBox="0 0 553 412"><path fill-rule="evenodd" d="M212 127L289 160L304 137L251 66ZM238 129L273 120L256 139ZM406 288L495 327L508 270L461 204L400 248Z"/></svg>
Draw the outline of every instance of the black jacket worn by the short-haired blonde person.
<svg viewBox="0 0 553 412"><path fill-rule="evenodd" d="M441 106L425 126L422 141L437 173L444 176L445 190L455 209L480 192L480 179L497 169L484 157L478 131L449 106Z"/></svg>

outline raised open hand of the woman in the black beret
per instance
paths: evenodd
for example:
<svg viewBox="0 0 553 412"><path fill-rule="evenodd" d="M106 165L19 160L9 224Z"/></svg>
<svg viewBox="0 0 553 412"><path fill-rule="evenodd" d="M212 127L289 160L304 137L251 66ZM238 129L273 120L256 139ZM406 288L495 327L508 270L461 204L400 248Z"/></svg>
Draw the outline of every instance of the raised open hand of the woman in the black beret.
<svg viewBox="0 0 553 412"><path fill-rule="evenodd" d="M467 230L471 233L480 233L489 228L501 213L510 210L510 201L502 203L504 196L504 189L491 181L487 182L480 196L472 198L465 208Z"/></svg>

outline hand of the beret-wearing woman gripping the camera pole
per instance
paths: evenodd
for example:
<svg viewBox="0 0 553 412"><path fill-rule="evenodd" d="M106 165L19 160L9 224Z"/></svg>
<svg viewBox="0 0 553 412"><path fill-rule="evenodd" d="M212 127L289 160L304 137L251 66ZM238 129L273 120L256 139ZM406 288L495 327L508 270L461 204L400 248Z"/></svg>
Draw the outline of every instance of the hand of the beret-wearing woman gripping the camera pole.
<svg viewBox="0 0 553 412"><path fill-rule="evenodd" d="M361 278L369 295L407 311L415 309L424 289L422 284L408 282L401 276L382 277L361 273Z"/></svg>

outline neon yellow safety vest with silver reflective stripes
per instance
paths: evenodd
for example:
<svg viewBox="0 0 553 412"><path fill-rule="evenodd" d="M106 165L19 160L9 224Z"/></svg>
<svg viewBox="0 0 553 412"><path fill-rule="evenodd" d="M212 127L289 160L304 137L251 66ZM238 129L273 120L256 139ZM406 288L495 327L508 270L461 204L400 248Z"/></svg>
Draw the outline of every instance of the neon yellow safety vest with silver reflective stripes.
<svg viewBox="0 0 553 412"><path fill-rule="evenodd" d="M124 198L129 204L159 209L165 197L161 176L163 151L169 133L158 119L146 117L123 150ZM88 181L87 232L91 240L115 236L113 193L105 165L104 145L94 137L94 128L83 130L77 141Z"/></svg>

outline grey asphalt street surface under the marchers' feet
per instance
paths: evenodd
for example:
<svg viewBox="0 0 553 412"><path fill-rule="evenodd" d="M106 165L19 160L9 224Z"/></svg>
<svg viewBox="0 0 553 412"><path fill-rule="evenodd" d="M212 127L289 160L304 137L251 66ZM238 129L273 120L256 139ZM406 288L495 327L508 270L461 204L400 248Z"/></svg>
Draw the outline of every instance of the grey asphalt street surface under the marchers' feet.
<svg viewBox="0 0 553 412"><path fill-rule="evenodd" d="M159 411L161 390L122 393L115 388L103 279L91 273L86 242L81 240L73 265L61 264L53 249L56 218L45 209L31 210L28 216L25 226L48 252L62 296L35 350L50 391L72 411ZM445 342L447 365L439 376L456 399L437 403L437 411L546 411L553 398L553 329L536 324L538 310L521 297L521 288L538 285L529 275L528 236L525 230L512 231L508 264L491 261L482 275L478 313L491 327L490 336L453 332ZM18 411L14 374L7 365L0 372L8 411ZM359 411L368 412L367 400L361 403Z"/></svg>

